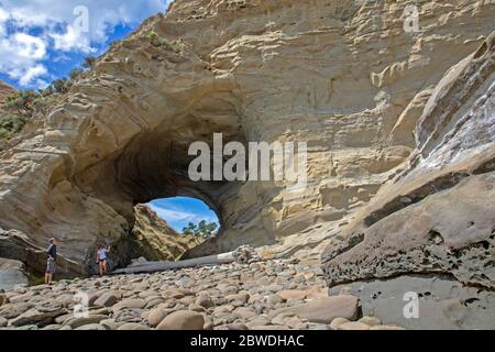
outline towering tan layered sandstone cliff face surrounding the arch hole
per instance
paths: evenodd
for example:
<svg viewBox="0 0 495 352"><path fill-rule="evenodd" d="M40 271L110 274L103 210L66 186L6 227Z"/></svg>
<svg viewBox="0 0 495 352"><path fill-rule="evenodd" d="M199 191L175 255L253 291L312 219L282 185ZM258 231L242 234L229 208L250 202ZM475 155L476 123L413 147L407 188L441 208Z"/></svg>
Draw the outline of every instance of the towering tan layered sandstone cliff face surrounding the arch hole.
<svg viewBox="0 0 495 352"><path fill-rule="evenodd" d="M493 31L495 4L451 0L421 4L420 31L407 33L408 4L175 1L101 56L37 135L1 153L0 227L38 246L59 234L61 253L88 271L101 241L132 258L135 204L195 196L223 231L189 256L249 243L318 261L406 166L432 88ZM215 132L307 142L308 187L190 182L188 146Z"/></svg>

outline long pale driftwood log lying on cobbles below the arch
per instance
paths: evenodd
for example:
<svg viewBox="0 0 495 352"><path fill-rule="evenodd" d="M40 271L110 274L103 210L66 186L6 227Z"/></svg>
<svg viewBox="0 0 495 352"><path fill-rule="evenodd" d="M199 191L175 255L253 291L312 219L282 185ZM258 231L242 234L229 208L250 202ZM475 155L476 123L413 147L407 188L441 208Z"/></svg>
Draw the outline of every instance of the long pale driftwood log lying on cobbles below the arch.
<svg viewBox="0 0 495 352"><path fill-rule="evenodd" d="M195 257L191 260L178 262L133 262L125 268L119 268L113 271L112 274L155 273L201 265L219 265L219 264L229 264L233 262L252 263L256 261L260 261L260 256L256 254L256 251L248 245L243 245L238 248L233 252Z"/></svg>

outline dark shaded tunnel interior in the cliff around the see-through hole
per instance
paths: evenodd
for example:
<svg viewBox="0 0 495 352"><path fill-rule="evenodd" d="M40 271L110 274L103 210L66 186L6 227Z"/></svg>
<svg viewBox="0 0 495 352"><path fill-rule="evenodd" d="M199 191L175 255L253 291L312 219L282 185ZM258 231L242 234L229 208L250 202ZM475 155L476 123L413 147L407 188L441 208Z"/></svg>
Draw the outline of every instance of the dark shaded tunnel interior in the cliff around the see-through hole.
<svg viewBox="0 0 495 352"><path fill-rule="evenodd" d="M118 213L120 221L109 222L107 233L101 233L101 227L96 229L98 235L107 239L106 242L117 240L116 266L125 265L139 256L175 260L184 253L183 248L170 255L152 253L140 243L142 235L135 235L133 229L140 220L138 213L144 211L141 205L154 199L178 196L199 199L218 215L223 228L224 204L231 195L235 195L240 184L191 180L188 168L196 155L188 155L188 150L194 142L206 142L212 151L213 133L222 133L224 143L244 143L235 121L230 119L228 123L217 124L215 119L204 121L193 114L184 116L160 125L153 132L136 135L120 153L76 175L76 184L85 194L98 198Z"/></svg>

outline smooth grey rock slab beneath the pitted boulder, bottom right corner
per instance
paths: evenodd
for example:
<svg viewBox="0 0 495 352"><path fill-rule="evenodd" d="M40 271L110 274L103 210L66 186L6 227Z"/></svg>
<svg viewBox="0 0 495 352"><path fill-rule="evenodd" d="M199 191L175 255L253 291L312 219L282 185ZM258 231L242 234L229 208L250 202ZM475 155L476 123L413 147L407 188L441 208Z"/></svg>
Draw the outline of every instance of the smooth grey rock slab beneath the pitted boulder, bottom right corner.
<svg viewBox="0 0 495 352"><path fill-rule="evenodd" d="M338 285L360 298L364 316L378 317L385 324L407 329L495 329L495 293L466 287L452 277L440 275L403 275ZM418 297L418 316L410 317L406 307ZM407 310L406 315L404 310ZM410 317L410 318L407 318Z"/></svg>

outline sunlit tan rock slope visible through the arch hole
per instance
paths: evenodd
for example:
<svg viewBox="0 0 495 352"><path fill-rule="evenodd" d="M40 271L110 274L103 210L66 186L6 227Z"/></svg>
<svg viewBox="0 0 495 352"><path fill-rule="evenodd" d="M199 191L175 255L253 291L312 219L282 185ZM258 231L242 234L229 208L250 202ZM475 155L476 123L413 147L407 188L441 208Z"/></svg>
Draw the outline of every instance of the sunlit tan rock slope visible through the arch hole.
<svg viewBox="0 0 495 352"><path fill-rule="evenodd" d="M135 224L131 241L134 242L132 249L135 256L144 256L148 261L175 261L202 242L179 234L145 205L138 205L134 210Z"/></svg>

